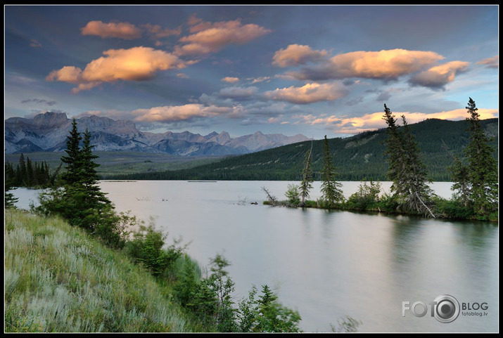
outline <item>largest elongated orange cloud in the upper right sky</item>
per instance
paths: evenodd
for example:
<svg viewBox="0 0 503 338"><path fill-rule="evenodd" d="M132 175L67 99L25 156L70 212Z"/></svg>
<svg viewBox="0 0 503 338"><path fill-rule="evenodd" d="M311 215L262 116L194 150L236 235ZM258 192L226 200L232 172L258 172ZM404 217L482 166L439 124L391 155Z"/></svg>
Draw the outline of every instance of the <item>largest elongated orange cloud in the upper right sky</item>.
<svg viewBox="0 0 503 338"><path fill-rule="evenodd" d="M351 77L390 80L424 70L442 59L443 56L432 51L355 51L333 56L300 71L287 72L287 76L301 80Z"/></svg>

